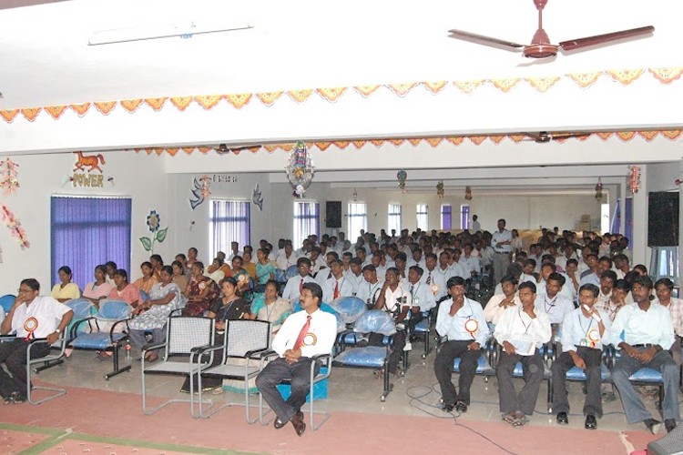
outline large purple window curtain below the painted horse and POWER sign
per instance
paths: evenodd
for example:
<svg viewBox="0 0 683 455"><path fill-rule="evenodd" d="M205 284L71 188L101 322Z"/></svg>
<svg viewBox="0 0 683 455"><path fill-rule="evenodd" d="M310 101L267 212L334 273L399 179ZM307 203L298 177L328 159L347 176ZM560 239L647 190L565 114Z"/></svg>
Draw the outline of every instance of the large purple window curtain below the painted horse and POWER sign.
<svg viewBox="0 0 683 455"><path fill-rule="evenodd" d="M72 281L85 288L93 271L107 261L130 274L129 197L51 198L52 285L59 283L58 269L71 268ZM46 283L43 288L49 289Z"/></svg>

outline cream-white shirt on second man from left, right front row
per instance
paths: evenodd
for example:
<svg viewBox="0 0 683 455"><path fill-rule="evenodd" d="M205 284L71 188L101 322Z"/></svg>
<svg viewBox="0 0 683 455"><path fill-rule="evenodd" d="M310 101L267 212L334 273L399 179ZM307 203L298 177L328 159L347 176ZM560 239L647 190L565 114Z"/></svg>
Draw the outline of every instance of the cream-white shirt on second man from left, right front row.
<svg viewBox="0 0 683 455"><path fill-rule="evenodd" d="M510 342L520 356L534 355L534 349L541 348L552 335L548 315L542 311L536 311L535 315L531 319L521 306L505 309L495 325L495 340L501 346L503 341Z"/></svg>

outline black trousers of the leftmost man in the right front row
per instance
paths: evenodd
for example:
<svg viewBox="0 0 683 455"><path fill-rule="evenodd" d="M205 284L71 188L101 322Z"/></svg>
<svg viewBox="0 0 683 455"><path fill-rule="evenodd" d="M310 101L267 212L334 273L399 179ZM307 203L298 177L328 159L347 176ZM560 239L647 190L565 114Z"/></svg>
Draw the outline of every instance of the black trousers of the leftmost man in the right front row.
<svg viewBox="0 0 683 455"><path fill-rule="evenodd" d="M476 374L476 367L479 357L482 355L481 349L469 350L467 347L472 344L472 339L454 339L446 341L441 346L441 350L434 359L434 373L441 386L443 404L454 406L456 401L464 401L470 404L470 387ZM458 379L458 389L455 389L451 375L453 373L453 362L460 358L460 378Z"/></svg>

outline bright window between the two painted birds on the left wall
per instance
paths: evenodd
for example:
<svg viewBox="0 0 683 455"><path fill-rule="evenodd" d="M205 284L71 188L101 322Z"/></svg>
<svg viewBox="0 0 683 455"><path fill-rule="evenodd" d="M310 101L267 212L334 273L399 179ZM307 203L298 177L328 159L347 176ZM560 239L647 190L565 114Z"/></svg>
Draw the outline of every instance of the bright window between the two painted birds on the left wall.
<svg viewBox="0 0 683 455"><path fill-rule="evenodd" d="M212 199L209 207L209 252L216 258L219 251L228 252L230 244L240 248L250 244L250 203L239 200Z"/></svg>

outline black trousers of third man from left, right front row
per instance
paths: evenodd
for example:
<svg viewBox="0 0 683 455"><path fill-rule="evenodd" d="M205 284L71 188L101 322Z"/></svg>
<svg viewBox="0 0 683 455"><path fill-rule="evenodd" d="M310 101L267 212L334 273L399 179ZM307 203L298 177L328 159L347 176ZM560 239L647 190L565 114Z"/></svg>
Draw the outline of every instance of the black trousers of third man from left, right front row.
<svg viewBox="0 0 683 455"><path fill-rule="evenodd" d="M584 415L593 414L602 417L602 399L600 397L600 362L602 350L580 346L576 354L586 362L586 399ZM568 352L563 352L553 363L553 409L557 412L569 412L569 400L566 391L566 372L574 368L574 360Z"/></svg>

